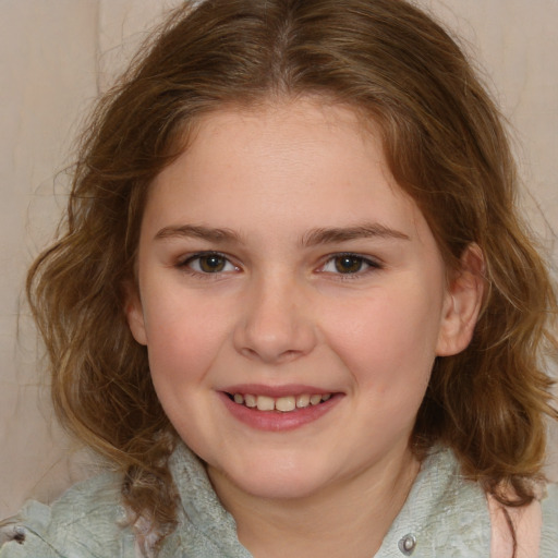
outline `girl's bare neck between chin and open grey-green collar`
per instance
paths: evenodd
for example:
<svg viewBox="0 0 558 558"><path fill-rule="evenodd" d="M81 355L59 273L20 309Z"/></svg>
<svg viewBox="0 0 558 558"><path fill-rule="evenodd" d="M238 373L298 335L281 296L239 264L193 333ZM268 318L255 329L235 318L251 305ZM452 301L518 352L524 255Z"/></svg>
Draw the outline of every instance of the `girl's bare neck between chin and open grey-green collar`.
<svg viewBox="0 0 558 558"><path fill-rule="evenodd" d="M255 558L326 553L335 558L373 556L401 510L420 464L405 453L380 472L365 471L303 498L246 495L219 474L211 480L233 515L240 542Z"/></svg>

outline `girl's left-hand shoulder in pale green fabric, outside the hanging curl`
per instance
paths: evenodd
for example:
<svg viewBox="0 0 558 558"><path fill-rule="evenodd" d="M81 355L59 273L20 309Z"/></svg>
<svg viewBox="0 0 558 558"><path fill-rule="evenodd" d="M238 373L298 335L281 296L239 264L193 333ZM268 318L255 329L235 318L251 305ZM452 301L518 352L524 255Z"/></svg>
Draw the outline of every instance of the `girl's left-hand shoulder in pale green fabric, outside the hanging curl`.
<svg viewBox="0 0 558 558"><path fill-rule="evenodd" d="M50 507L27 502L0 524L0 558L128 556L123 550L133 548L133 535L121 526L120 487L120 475L105 473L73 486Z"/></svg>

